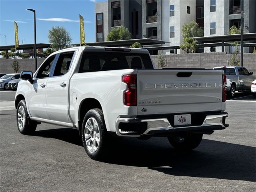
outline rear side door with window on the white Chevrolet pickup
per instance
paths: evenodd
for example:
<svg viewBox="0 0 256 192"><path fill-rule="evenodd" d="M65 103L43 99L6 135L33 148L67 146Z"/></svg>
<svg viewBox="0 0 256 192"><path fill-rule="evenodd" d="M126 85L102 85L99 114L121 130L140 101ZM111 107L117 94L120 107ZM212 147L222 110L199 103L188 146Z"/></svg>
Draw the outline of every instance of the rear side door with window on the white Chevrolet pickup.
<svg viewBox="0 0 256 192"><path fill-rule="evenodd" d="M68 85L74 51L61 53L47 82L46 111L50 120L71 123L68 116Z"/></svg>

